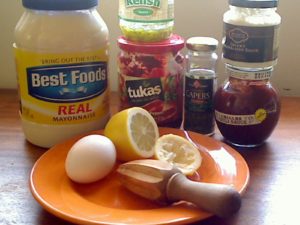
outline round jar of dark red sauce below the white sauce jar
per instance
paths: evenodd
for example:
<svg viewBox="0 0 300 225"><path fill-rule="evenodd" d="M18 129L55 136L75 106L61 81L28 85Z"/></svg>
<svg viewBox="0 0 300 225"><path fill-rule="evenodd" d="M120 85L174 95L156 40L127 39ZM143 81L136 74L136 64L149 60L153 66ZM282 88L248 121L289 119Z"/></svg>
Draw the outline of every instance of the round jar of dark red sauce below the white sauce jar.
<svg viewBox="0 0 300 225"><path fill-rule="evenodd" d="M229 79L214 98L216 124L235 146L255 147L273 132L280 100L270 83L272 69L241 71L227 65Z"/></svg>

